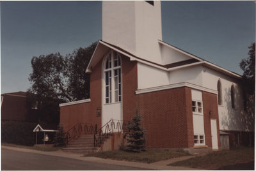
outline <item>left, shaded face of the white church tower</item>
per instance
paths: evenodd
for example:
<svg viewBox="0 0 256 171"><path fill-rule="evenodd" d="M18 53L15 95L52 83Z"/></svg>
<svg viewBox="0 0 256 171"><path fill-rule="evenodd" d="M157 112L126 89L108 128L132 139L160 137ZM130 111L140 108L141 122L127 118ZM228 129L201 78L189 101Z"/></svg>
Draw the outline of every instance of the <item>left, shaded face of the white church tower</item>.
<svg viewBox="0 0 256 171"><path fill-rule="evenodd" d="M134 1L102 1L102 40L135 52Z"/></svg>

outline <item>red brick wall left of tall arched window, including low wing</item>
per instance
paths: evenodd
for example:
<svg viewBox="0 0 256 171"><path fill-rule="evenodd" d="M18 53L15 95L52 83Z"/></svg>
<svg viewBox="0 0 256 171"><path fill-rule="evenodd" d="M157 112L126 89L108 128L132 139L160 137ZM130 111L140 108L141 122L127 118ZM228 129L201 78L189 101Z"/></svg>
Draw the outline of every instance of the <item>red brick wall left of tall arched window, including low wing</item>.
<svg viewBox="0 0 256 171"><path fill-rule="evenodd" d="M77 123L97 124L101 127L101 117L97 117L97 107L101 105L102 61L100 61L90 75L90 99L88 103L69 105L60 108L60 124L67 131Z"/></svg>

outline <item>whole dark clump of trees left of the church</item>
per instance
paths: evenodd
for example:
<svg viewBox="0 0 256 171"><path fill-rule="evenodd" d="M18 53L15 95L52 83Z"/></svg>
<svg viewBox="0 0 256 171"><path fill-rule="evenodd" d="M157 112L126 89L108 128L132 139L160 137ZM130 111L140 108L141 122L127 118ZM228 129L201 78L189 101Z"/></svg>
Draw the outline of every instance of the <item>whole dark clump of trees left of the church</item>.
<svg viewBox="0 0 256 171"><path fill-rule="evenodd" d="M28 120L59 123L60 103L90 98L90 75L85 71L96 46L92 43L65 57L56 53L31 59Z"/></svg>

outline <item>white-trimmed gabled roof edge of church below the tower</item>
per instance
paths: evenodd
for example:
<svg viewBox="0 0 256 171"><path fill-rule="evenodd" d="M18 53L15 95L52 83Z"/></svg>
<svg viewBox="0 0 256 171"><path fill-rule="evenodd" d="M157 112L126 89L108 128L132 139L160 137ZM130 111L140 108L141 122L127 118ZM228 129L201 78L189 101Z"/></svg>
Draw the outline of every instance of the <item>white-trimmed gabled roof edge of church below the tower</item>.
<svg viewBox="0 0 256 171"><path fill-rule="evenodd" d="M164 71L172 71L172 70L178 70L181 68L186 68L190 66L196 66L196 65L203 65L207 66L208 68L212 68L213 70L220 71L221 73L225 73L226 75L229 75L231 77L235 78L241 78L241 75L234 73L232 71L228 71L225 68L221 68L220 66L217 66L216 64L212 64L209 61L205 61L204 59L194 56L193 54L189 54L188 52L181 50L180 48L174 47L173 45L170 45L168 43L165 43L164 41L158 40L159 43L162 45L165 45L166 47L172 48L174 50L177 50L178 52L185 54L186 56L191 57L191 59L185 60L185 61L179 61L177 63L170 63L170 64L158 64L154 63L152 61L147 61L141 57L135 56L131 52L128 52L127 50L124 50L123 48L117 47L116 45L112 45L111 43L108 43L106 41L99 40L97 47L95 48L95 51L93 52L93 56L90 60L90 63L88 64L86 68L86 73L92 72L93 67L99 63L100 59L109 52L109 50L115 50L116 52L119 52L120 54L123 54L124 56L127 56L130 58L131 61L138 61L139 63L147 64L148 66L153 66L156 68L159 68Z"/></svg>

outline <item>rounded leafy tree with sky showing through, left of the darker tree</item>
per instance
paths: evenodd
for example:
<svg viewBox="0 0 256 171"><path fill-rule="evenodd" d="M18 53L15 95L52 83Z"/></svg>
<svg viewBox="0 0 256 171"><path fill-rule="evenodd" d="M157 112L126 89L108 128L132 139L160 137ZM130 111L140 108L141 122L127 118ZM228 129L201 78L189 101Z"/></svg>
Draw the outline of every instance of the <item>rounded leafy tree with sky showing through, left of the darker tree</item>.
<svg viewBox="0 0 256 171"><path fill-rule="evenodd" d="M33 57L31 65L33 71L29 75L29 81L32 86L29 93L72 101L72 96L67 91L68 67L60 53Z"/></svg>

